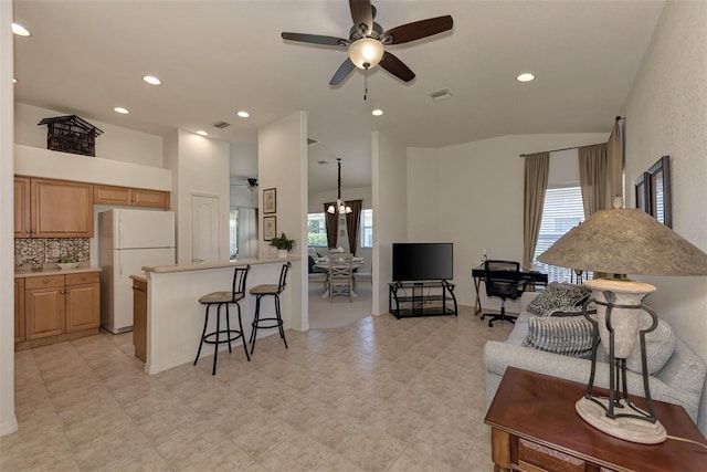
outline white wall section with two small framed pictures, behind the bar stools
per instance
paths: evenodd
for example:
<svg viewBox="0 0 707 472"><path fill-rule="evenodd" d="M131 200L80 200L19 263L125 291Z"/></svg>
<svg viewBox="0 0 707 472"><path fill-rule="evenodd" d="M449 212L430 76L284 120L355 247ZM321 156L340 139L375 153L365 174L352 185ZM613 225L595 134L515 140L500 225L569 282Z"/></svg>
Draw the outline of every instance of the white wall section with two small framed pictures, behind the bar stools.
<svg viewBox="0 0 707 472"><path fill-rule="evenodd" d="M258 207L263 190L276 189L277 233L295 240L293 255L306 261L307 252L307 114L296 112L262 126L257 137ZM263 241L263 214L258 216L258 258L274 256L275 248ZM283 311L289 311L286 328L309 329L307 264L294 261L282 298ZM273 281L272 283L276 283ZM283 316L287 319L287 316Z"/></svg>

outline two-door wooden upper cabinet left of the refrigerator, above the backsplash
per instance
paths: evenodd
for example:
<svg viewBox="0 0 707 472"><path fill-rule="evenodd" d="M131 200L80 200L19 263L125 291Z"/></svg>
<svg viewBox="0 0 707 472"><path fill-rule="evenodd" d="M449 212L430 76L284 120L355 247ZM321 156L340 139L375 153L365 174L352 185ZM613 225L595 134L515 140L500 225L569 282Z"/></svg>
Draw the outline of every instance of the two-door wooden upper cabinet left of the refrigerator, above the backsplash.
<svg viewBox="0 0 707 472"><path fill-rule="evenodd" d="M14 196L15 238L93 237L93 186L15 177Z"/></svg>

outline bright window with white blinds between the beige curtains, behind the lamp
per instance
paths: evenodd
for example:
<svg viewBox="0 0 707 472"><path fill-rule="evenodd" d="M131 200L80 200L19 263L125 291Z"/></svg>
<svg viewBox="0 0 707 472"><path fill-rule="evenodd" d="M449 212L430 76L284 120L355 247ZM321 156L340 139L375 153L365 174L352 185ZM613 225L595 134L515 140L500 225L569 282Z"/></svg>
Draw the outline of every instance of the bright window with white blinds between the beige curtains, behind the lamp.
<svg viewBox="0 0 707 472"><path fill-rule="evenodd" d="M548 274L549 282L573 282L576 274L572 270L557 268L538 262L536 259L566 232L584 221L582 191L580 187L549 188L545 192L542 222L538 243L535 248L534 261L541 272Z"/></svg>

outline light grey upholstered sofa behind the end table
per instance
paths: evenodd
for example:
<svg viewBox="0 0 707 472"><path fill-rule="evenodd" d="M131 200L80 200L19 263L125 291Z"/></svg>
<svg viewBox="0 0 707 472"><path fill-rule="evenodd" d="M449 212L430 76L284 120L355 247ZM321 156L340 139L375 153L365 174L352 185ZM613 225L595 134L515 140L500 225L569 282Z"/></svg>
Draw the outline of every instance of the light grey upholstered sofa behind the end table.
<svg viewBox="0 0 707 472"><path fill-rule="evenodd" d="M524 340L525 344L528 344L526 338L528 337L530 317L538 316L528 312L528 305L538 294L538 292L527 292L521 296L520 315L505 342L489 340L484 347L487 405L490 405L496 395L498 385L508 366L574 380L580 384L587 384L589 380L590 359L524 346ZM532 322L532 325L537 325L537 319ZM652 398L680 405L703 434L707 434L707 394L705 394L707 364L677 337L674 337L674 348L667 356L665 364L648 378ZM594 385L608 387L609 369L606 364L598 363ZM641 374L629 370L627 385L630 395L642 396L643 380Z"/></svg>

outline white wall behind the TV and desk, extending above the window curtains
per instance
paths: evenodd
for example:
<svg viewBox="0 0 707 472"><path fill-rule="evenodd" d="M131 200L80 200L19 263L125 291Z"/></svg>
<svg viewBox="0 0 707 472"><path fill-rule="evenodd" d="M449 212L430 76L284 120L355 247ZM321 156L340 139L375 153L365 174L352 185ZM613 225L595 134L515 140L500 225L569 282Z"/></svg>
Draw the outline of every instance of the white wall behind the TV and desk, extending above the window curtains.
<svg viewBox="0 0 707 472"><path fill-rule="evenodd" d="M488 256L523 258L520 154L605 143L606 133L514 135L439 149L408 151L408 241L453 242L455 294L474 304L472 269ZM386 180L388 185L388 180ZM498 308L496 298L482 303ZM508 310L517 307L508 303Z"/></svg>

